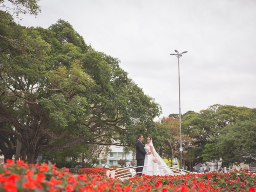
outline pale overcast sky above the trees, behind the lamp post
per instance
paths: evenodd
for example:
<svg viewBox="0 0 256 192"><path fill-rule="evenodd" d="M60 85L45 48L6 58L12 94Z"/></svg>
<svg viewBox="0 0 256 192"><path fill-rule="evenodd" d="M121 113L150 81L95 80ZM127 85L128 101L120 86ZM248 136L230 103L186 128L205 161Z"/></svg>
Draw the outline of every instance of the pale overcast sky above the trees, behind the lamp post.
<svg viewBox="0 0 256 192"><path fill-rule="evenodd" d="M163 114L213 104L256 107L255 0L41 0L20 24L48 28L64 19L120 66Z"/></svg>

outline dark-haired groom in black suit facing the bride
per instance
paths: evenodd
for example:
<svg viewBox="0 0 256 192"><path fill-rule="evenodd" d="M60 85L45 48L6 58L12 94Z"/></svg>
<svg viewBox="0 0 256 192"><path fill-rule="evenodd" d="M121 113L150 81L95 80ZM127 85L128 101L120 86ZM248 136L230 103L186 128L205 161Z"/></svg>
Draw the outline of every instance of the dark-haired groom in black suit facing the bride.
<svg viewBox="0 0 256 192"><path fill-rule="evenodd" d="M138 166L144 166L145 155L146 154L151 154L150 151L148 151L148 152L145 151L144 146L142 144L142 141L143 141L143 135L139 134L138 135L138 140L136 142L137 167ZM142 172L142 170L143 170L143 167L136 168L137 175L141 175L142 173L138 173L138 172Z"/></svg>

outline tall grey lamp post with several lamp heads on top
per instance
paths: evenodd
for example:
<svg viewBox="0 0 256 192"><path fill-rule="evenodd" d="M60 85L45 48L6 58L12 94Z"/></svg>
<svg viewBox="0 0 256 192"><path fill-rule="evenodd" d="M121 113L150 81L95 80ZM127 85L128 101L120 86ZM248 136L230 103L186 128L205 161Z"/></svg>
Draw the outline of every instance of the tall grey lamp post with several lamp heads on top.
<svg viewBox="0 0 256 192"><path fill-rule="evenodd" d="M182 57L182 54L186 53L187 51L184 51L182 53L179 53L177 50L174 50L176 53L172 53L170 55L175 55L178 58L178 72L179 72L179 108L180 108L180 57ZM182 169L182 140L181 140L181 115L179 116L180 120L180 168Z"/></svg>

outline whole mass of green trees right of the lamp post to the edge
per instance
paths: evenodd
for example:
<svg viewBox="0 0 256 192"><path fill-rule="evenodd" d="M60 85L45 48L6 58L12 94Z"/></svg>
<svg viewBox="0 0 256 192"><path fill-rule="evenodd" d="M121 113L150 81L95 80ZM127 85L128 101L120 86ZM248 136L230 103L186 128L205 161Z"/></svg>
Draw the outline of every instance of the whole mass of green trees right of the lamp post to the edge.
<svg viewBox="0 0 256 192"><path fill-rule="evenodd" d="M227 167L242 162L255 162L255 117L255 109L219 104L201 110L200 113L188 111L183 114L182 135L189 138L187 143L182 141L187 151L183 155L187 169L191 171L200 162L220 159L222 166ZM177 129L178 119L174 120ZM178 138L178 130L174 136ZM174 141L175 138L172 139Z"/></svg>

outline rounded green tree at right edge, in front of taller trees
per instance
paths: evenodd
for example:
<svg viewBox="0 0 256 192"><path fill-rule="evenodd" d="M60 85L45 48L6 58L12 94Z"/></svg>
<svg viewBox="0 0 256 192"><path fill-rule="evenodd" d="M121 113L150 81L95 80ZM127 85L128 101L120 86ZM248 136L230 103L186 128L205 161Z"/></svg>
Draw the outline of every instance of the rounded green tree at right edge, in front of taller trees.
<svg viewBox="0 0 256 192"><path fill-rule="evenodd" d="M255 118L236 122L221 131L216 146L225 165L249 164L256 161L255 131Z"/></svg>

